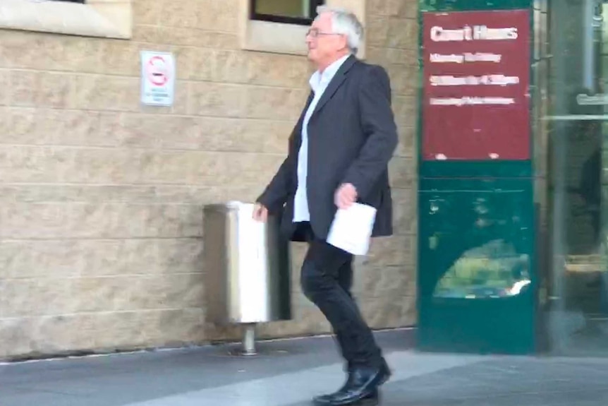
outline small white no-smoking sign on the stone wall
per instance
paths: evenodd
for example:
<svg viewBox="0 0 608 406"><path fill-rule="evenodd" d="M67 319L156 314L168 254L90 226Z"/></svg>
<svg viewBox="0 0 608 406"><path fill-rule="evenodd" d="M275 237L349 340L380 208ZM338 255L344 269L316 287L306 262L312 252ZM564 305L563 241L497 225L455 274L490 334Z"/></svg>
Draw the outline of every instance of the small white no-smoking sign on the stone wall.
<svg viewBox="0 0 608 406"><path fill-rule="evenodd" d="M141 102L172 106L175 95L175 59L169 52L142 51Z"/></svg>

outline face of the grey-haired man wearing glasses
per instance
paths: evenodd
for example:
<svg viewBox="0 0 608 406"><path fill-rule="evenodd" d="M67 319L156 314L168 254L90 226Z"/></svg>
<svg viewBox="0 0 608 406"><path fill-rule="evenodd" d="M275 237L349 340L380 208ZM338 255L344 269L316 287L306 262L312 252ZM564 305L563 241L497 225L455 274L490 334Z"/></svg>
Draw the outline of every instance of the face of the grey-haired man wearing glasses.
<svg viewBox="0 0 608 406"><path fill-rule="evenodd" d="M310 61L324 64L336 59L336 55L346 47L346 38L332 32L332 13L322 13L312 23L306 44Z"/></svg>

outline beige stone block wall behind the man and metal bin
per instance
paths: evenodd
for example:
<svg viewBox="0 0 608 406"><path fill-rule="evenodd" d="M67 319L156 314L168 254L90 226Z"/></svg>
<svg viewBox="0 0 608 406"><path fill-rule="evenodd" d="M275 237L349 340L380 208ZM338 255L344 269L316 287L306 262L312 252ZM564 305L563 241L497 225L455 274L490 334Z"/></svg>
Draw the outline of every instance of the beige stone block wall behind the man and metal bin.
<svg viewBox="0 0 608 406"><path fill-rule="evenodd" d="M233 340L205 317L202 206L251 201L308 94L303 56L239 49L238 0L135 0L132 40L0 30L0 359ZM358 261L373 328L415 324L417 2L367 0L401 143L396 235ZM174 107L142 107L139 51L174 52ZM267 338L329 332L300 292Z"/></svg>

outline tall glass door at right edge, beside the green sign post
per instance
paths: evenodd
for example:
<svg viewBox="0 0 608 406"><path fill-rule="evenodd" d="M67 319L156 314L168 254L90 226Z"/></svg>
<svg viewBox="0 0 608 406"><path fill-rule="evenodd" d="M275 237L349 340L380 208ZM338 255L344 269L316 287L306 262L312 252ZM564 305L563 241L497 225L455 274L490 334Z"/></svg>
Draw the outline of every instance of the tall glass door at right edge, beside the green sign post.
<svg viewBox="0 0 608 406"><path fill-rule="evenodd" d="M547 338L554 353L608 354L608 5L547 9Z"/></svg>

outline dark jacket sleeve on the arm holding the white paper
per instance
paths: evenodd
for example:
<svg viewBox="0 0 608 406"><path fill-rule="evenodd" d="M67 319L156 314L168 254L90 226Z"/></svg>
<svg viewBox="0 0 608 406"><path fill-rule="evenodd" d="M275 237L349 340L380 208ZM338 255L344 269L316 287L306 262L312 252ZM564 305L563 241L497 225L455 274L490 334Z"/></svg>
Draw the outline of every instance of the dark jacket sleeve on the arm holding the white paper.
<svg viewBox="0 0 608 406"><path fill-rule="evenodd" d="M348 168L343 183L353 184L365 198L387 169L398 143L391 109L391 84L382 66L370 66L359 88L360 120L367 137L357 159Z"/></svg>

